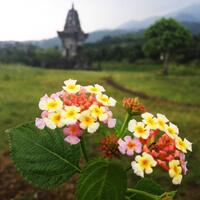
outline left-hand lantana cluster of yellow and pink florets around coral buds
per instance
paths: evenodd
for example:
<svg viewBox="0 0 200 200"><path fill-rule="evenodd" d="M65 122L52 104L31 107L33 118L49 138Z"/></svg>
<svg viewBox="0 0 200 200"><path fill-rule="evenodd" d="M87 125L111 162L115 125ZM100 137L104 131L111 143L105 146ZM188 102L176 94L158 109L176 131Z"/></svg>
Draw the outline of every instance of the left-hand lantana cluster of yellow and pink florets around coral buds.
<svg viewBox="0 0 200 200"><path fill-rule="evenodd" d="M35 124L39 129L62 128L64 140L70 144L79 143L84 131L96 132L100 123L113 128L116 119L110 107L115 106L116 100L104 92L104 87L98 84L81 86L76 80L66 80L62 91L40 99L42 113Z"/></svg>

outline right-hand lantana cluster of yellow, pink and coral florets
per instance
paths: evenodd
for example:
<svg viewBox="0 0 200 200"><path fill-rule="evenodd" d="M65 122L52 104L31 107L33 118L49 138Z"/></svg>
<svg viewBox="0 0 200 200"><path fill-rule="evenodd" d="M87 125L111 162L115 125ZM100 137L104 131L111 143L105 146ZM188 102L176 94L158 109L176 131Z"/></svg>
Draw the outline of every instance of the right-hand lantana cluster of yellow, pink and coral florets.
<svg viewBox="0 0 200 200"><path fill-rule="evenodd" d="M185 154L192 151L192 143L179 137L179 129L166 116L145 112L142 121L132 119L128 130L132 136L118 140L118 149L123 155L135 156L131 162L134 173L144 177L160 166L169 173L173 184L180 184L187 172Z"/></svg>

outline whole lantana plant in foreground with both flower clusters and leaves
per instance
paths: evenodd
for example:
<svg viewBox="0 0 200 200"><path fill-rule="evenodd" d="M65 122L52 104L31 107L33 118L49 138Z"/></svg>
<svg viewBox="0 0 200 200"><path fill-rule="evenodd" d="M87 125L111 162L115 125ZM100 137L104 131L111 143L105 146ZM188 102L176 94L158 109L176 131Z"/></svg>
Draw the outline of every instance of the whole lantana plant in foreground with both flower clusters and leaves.
<svg viewBox="0 0 200 200"><path fill-rule="evenodd" d="M180 184L192 144L165 115L146 112L138 98L123 100L121 123L111 111L116 103L103 86L66 80L61 91L40 99L35 122L9 130L17 169L41 188L54 188L79 174L78 200L173 199L176 191L165 192L146 177L161 168L173 184ZM101 153L88 155L88 147ZM141 179L127 186L127 174Z"/></svg>

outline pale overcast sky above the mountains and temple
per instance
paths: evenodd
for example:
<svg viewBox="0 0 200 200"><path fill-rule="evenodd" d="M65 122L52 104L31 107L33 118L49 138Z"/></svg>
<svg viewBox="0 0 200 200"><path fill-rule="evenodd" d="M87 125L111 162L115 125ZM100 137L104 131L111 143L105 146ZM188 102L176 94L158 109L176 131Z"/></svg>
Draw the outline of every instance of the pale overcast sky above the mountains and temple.
<svg viewBox="0 0 200 200"><path fill-rule="evenodd" d="M186 7L200 0L0 0L0 41L40 40L63 30L74 2L82 29L114 29Z"/></svg>

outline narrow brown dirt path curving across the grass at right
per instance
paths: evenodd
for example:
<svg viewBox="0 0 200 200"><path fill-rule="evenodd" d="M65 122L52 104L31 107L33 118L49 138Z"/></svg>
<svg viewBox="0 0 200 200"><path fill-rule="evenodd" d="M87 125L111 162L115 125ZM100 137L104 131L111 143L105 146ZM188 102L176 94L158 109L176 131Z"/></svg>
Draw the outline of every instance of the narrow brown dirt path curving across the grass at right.
<svg viewBox="0 0 200 200"><path fill-rule="evenodd" d="M143 92L139 92L139 91L134 91L132 89L128 89L126 87L123 87L122 85L119 85L118 83L116 83L112 77L105 77L102 79L106 84L112 86L113 88L121 91L121 92L125 92L127 94L133 95L133 96L138 96L142 99L146 99L146 100L153 100L158 102L159 104L171 104L171 105L176 105L176 106L180 106L180 107L184 107L184 108L200 108L199 105L195 105L195 104L189 104L189 103L179 103L176 101L172 101L172 100L168 100L162 97L156 97L156 96L150 96L148 94L145 94Z"/></svg>

